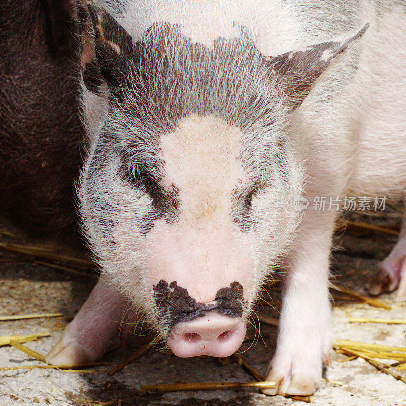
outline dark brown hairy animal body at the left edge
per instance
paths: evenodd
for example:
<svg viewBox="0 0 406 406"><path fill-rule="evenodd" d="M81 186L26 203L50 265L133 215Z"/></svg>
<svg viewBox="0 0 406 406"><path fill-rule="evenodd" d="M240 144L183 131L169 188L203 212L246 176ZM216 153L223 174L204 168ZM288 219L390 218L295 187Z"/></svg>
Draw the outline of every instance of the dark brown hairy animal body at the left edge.
<svg viewBox="0 0 406 406"><path fill-rule="evenodd" d="M6 1L0 16L0 210L36 238L81 246L76 22L63 2Z"/></svg>

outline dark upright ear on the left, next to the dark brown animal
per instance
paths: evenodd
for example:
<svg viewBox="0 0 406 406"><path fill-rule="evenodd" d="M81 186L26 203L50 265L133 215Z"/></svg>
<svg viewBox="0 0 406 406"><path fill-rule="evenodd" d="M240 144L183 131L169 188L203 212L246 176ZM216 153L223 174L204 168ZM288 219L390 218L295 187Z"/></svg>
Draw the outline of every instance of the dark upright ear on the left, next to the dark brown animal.
<svg viewBox="0 0 406 406"><path fill-rule="evenodd" d="M91 0L77 1L77 18L81 39L80 64L88 90L101 95L106 85L119 89L128 77L132 38L105 10Z"/></svg>

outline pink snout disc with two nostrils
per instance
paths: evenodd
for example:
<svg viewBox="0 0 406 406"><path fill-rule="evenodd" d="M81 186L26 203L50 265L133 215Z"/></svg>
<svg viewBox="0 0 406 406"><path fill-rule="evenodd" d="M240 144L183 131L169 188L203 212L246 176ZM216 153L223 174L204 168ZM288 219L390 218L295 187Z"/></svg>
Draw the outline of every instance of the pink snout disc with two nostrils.
<svg viewBox="0 0 406 406"><path fill-rule="evenodd" d="M228 357L239 349L245 336L241 317L225 316L216 310L199 316L178 323L168 335L167 343L175 355Z"/></svg>

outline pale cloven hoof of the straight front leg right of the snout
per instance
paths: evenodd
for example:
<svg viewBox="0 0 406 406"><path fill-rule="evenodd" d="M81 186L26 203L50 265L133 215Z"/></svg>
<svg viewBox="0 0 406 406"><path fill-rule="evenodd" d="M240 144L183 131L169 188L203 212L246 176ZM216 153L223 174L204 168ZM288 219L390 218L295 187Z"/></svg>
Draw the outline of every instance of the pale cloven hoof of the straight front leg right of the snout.
<svg viewBox="0 0 406 406"><path fill-rule="evenodd" d="M297 395L309 396L317 389L317 381L309 376L296 373L290 376L284 376L279 371L271 370L266 377L267 381L274 381L275 388L262 389L266 395Z"/></svg>

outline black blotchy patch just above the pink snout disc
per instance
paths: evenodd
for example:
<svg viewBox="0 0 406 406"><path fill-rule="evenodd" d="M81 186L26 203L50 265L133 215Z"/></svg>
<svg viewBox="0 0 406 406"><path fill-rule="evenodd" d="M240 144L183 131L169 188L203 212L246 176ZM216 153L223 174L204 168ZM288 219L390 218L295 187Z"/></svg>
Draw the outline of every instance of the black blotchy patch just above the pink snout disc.
<svg viewBox="0 0 406 406"><path fill-rule="evenodd" d="M190 297L188 291L178 286L176 281L168 284L161 280L157 285L153 285L153 290L158 317L161 321L169 323L171 329L177 323L204 317L205 312L211 310L231 317L241 317L243 314L243 287L238 282L232 282L229 287L219 289L215 303L208 305Z"/></svg>

